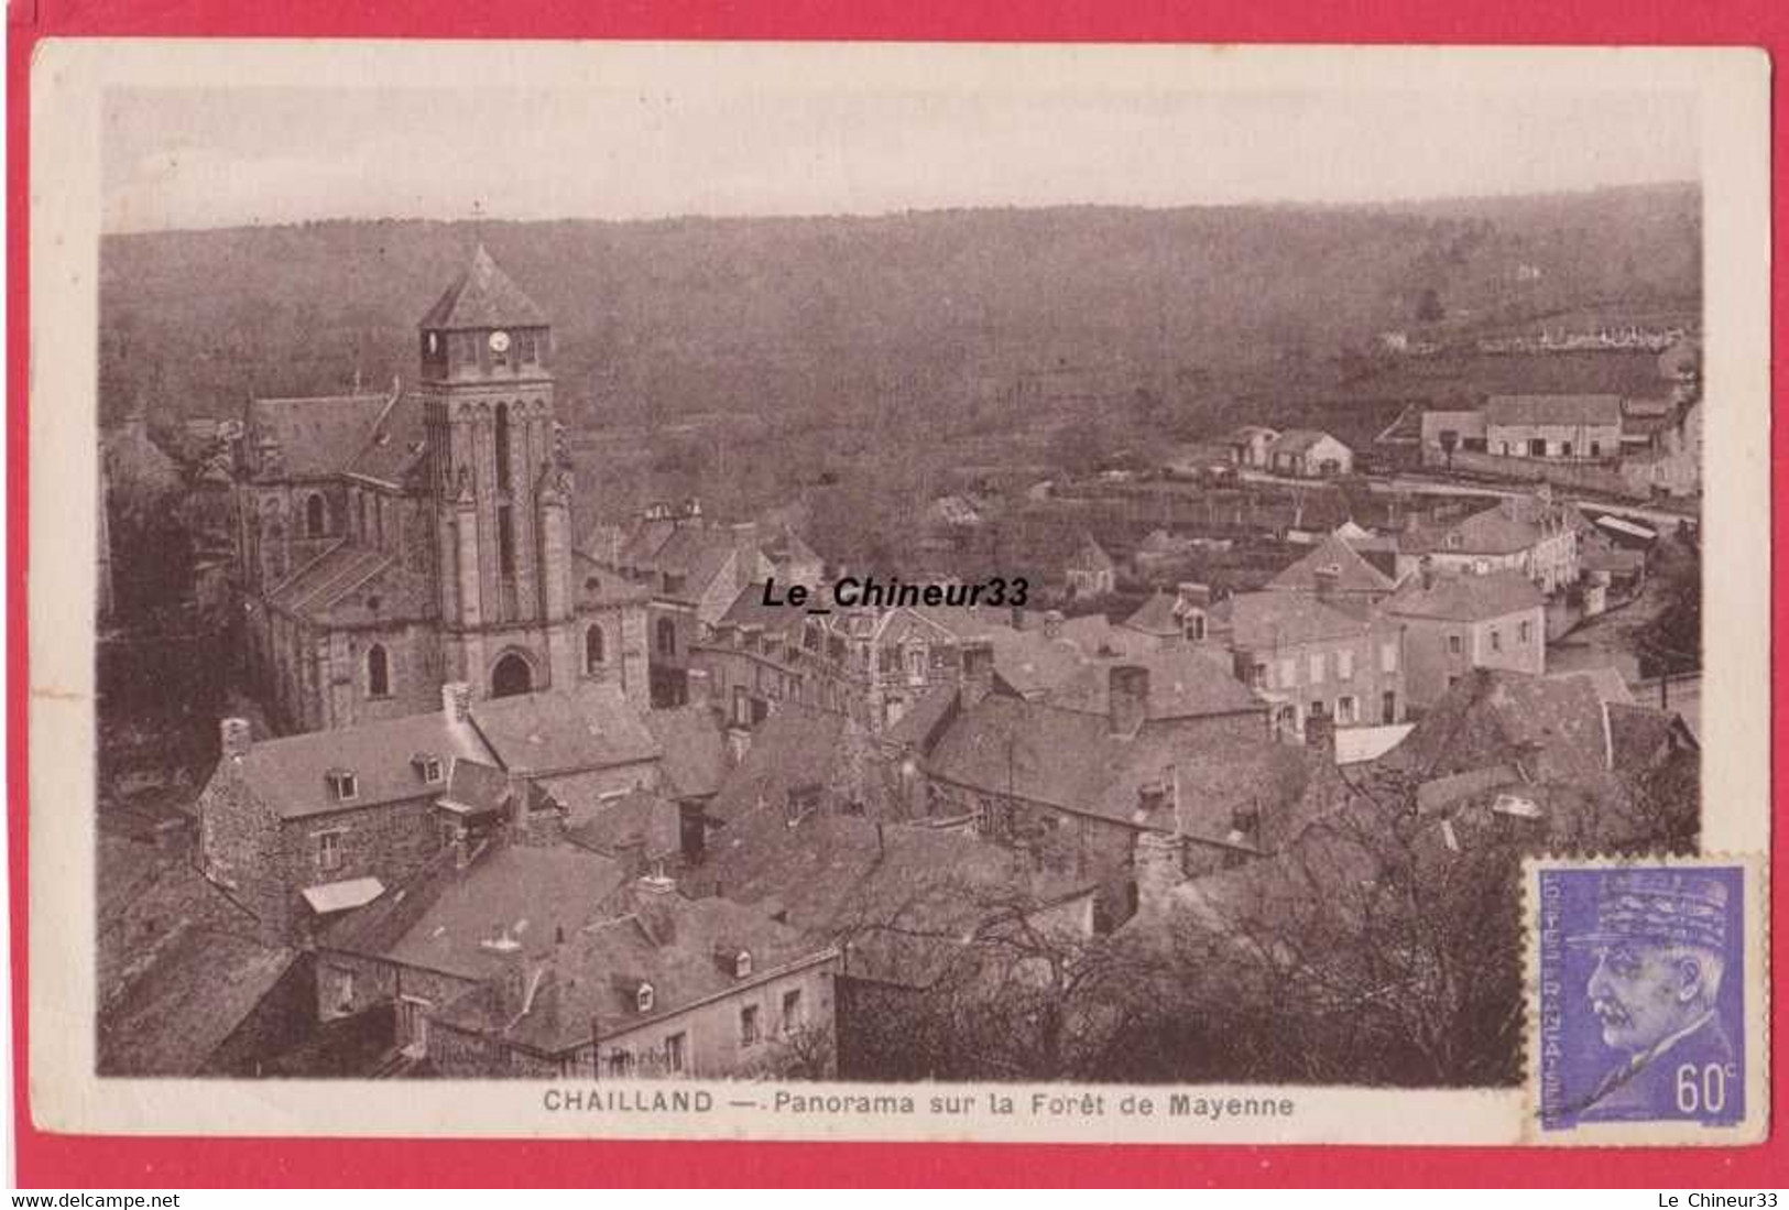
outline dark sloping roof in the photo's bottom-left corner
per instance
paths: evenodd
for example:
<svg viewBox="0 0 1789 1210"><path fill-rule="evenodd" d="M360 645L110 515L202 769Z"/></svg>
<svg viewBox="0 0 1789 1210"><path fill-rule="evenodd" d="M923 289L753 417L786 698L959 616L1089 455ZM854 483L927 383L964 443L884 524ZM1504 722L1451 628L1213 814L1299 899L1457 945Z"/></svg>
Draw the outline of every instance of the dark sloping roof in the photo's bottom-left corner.
<svg viewBox="0 0 1789 1210"><path fill-rule="evenodd" d="M181 925L100 1010L102 1076L197 1076L279 984L297 950Z"/></svg>

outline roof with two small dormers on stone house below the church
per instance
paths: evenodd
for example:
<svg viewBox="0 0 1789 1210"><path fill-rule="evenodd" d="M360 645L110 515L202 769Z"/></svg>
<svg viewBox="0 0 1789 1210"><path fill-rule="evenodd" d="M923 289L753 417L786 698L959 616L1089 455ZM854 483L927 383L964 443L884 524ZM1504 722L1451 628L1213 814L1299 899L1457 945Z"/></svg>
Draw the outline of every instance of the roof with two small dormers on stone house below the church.
<svg viewBox="0 0 1789 1210"><path fill-rule="evenodd" d="M438 711L256 741L242 757L242 777L250 791L286 820L329 811L376 807L408 798L435 797L440 784L428 784L411 761L417 754L490 761L490 750L471 727L453 725ZM220 763L220 773L222 763ZM358 795L336 800L331 770L354 773Z"/></svg>

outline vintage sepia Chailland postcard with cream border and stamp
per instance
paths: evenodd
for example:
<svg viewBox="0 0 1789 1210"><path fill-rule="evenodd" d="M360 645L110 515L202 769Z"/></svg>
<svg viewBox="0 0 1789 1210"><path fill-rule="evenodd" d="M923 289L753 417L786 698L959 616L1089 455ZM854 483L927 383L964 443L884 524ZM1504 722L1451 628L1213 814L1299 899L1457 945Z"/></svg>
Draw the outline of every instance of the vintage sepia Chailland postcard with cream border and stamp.
<svg viewBox="0 0 1789 1210"><path fill-rule="evenodd" d="M1768 100L43 43L34 1121L1759 1142Z"/></svg>

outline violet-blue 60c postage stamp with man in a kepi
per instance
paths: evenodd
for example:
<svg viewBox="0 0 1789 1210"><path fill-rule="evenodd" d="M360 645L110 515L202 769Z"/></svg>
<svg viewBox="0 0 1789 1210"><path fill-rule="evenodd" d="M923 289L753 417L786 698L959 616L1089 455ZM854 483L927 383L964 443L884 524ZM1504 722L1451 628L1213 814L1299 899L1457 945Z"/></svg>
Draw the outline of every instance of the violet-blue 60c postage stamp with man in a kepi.
<svg viewBox="0 0 1789 1210"><path fill-rule="evenodd" d="M1746 865L1542 866L1531 1078L1544 1133L1748 1119Z"/></svg>

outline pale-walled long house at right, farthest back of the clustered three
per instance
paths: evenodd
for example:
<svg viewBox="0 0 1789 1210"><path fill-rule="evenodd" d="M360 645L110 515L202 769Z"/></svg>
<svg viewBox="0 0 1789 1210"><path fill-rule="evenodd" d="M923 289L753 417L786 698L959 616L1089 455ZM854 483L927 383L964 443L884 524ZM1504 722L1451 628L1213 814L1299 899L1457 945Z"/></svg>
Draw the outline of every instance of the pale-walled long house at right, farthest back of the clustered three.
<svg viewBox="0 0 1789 1210"><path fill-rule="evenodd" d="M1505 496L1467 517L1426 521L1412 516L1397 535L1397 580L1422 566L1435 573L1519 571L1547 596L1578 584L1580 535L1589 523L1551 496Z"/></svg>

